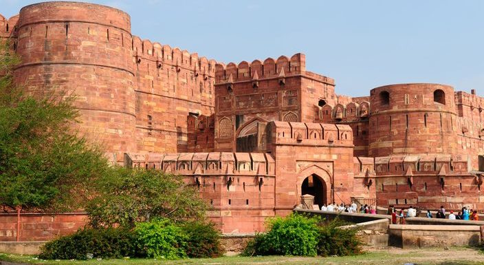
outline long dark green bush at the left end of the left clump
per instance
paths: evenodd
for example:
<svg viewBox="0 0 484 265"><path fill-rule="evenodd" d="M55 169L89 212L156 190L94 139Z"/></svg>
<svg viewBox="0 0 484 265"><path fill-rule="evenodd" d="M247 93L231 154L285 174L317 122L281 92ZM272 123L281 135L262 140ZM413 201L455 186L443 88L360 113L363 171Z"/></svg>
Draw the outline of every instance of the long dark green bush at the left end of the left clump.
<svg viewBox="0 0 484 265"><path fill-rule="evenodd" d="M47 242L41 248L41 259L120 258L135 255L135 237L125 229L84 229L72 235Z"/></svg>

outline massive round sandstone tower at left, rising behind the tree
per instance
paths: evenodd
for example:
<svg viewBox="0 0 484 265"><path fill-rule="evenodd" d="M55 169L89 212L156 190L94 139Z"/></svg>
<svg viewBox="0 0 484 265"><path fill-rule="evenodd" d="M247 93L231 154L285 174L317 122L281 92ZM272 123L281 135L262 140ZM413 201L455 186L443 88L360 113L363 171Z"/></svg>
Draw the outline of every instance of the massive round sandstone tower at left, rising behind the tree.
<svg viewBox="0 0 484 265"><path fill-rule="evenodd" d="M135 151L131 21L91 3L46 2L20 10L14 73L26 89L74 94L82 132L113 159Z"/></svg>

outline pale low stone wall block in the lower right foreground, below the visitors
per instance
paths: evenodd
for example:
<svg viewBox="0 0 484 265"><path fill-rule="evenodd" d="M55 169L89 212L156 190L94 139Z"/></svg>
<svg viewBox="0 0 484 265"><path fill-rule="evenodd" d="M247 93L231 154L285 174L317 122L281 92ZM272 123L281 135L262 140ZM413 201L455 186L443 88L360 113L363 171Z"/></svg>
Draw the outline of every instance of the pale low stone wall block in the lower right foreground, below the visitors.
<svg viewBox="0 0 484 265"><path fill-rule="evenodd" d="M476 246L480 243L480 226L391 224L389 246L422 248L432 246Z"/></svg>

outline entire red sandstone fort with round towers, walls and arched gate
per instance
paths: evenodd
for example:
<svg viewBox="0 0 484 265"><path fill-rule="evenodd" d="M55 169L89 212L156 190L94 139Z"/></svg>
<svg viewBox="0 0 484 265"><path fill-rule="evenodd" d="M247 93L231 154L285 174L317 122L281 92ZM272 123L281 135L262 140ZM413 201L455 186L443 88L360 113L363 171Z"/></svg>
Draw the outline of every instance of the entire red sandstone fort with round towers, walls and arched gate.
<svg viewBox="0 0 484 265"><path fill-rule="evenodd" d="M162 36L160 36L162 37ZM315 203L484 209L484 100L408 83L351 98L305 55L221 63L131 34L129 14L90 3L0 15L30 92L76 94L89 138L126 167L177 173L225 233L263 229Z"/></svg>

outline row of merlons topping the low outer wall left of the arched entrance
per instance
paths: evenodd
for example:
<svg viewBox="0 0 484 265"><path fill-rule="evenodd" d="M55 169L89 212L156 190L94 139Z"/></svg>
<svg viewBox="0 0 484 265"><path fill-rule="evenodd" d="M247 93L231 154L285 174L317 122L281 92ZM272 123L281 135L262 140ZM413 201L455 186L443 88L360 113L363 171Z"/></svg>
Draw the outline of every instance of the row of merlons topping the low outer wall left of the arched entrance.
<svg viewBox="0 0 484 265"><path fill-rule="evenodd" d="M161 169L180 175L274 176L275 161L268 153L125 153L126 167Z"/></svg>

